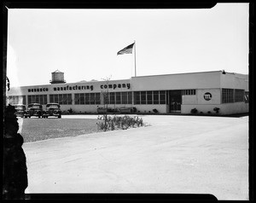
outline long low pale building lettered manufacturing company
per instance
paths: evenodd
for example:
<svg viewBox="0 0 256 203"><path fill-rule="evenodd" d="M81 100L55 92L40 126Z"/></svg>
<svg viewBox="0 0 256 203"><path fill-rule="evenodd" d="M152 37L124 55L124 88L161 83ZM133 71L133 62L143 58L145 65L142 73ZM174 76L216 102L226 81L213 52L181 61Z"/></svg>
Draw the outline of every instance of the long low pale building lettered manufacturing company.
<svg viewBox="0 0 256 203"><path fill-rule="evenodd" d="M61 80L64 81L61 72ZM222 71L132 77L130 79L13 87L7 102L45 107L57 102L62 111L97 113L98 107L135 107L139 113L248 113L248 76ZM213 110L215 109L215 110Z"/></svg>

